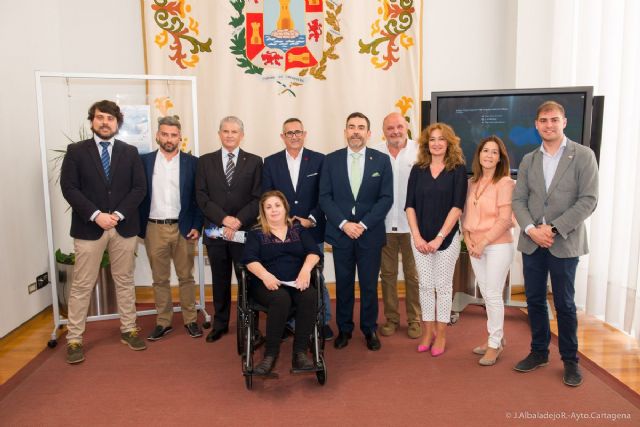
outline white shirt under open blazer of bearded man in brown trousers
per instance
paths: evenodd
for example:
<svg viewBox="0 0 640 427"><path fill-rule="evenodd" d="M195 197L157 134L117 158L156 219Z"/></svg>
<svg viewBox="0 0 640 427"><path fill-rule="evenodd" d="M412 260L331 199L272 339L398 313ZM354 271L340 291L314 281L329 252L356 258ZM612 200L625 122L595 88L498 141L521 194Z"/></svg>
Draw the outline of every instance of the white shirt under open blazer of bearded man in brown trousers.
<svg viewBox="0 0 640 427"><path fill-rule="evenodd" d="M178 152L171 160L158 150L153 167L151 219L178 219L180 215L180 156Z"/></svg>

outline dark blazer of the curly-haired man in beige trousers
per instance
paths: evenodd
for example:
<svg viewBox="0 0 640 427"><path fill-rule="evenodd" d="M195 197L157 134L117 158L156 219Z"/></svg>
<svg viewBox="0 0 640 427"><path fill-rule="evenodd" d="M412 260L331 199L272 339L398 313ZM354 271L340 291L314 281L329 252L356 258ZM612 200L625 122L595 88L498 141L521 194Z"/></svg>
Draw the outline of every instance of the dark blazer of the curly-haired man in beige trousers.
<svg viewBox="0 0 640 427"><path fill-rule="evenodd" d="M62 195L71 205L71 237L98 240L104 230L91 221L95 211L124 216L116 226L122 237L140 231L138 206L147 192L138 150L115 140L111 152L111 179L107 181L93 138L67 146L60 170Z"/></svg>

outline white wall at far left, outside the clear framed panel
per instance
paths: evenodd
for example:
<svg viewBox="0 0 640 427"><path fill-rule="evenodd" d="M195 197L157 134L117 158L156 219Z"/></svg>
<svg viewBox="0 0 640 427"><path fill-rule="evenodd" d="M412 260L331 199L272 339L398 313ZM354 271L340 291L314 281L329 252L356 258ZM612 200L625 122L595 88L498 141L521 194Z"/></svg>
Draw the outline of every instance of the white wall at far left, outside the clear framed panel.
<svg viewBox="0 0 640 427"><path fill-rule="evenodd" d="M34 71L144 73L139 2L2 2L0 337L51 304ZM89 105L87 105L87 108Z"/></svg>

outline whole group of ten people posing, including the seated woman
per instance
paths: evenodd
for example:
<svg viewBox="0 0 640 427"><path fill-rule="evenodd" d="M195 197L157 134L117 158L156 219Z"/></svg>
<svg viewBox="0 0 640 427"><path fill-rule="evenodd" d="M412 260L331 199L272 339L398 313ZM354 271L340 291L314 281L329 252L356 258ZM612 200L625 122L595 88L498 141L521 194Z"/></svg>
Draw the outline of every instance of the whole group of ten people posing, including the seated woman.
<svg viewBox="0 0 640 427"><path fill-rule="evenodd" d="M283 123L285 149L262 159L240 148L244 125L234 116L221 120L221 148L199 159L179 150L180 122L159 120L158 150L140 160L115 135L122 123L118 106L95 103L89 110L94 138L71 144L61 187L73 210L76 267L69 299L67 361L84 360L82 334L99 257L111 255L116 282L121 340L146 348L135 324L133 257L136 236L145 239L158 315L148 340L172 330L169 288L173 260L187 333L203 335L196 320L193 254L202 229L210 259L214 320L207 342L229 331L231 271L238 262L256 277L251 295L268 307L266 346L256 374L268 374L279 355L287 321L295 329L292 365L313 367L307 340L317 310L310 273L324 242L332 246L336 277L334 347L349 344L354 330L355 278L360 287L359 326L371 351L378 337L378 276L384 316L379 329L399 329L399 255L406 288L407 335L419 339L418 352L445 352L452 305L452 279L464 236L477 283L487 306L488 337L472 351L480 365L496 363L504 350L502 292L513 258L513 214L522 228L529 305L531 353L516 370L531 371L548 360L549 321L546 280L551 273L558 313L564 382L579 385L576 310L573 302L578 257L587 252L584 220L597 201L593 152L568 140L564 109L546 102L536 113L540 150L524 157L517 184L510 176L502 140L490 136L477 146L473 175L467 178L460 138L444 123L427 127L418 141L408 137L399 113L387 115L385 141L367 147L369 119L352 113L345 123L346 147L327 156L304 147L307 132L297 118ZM515 190L514 190L515 189ZM461 224L461 229L460 229ZM246 238L246 243L243 243ZM239 276L240 272L236 271ZM324 279L322 279L324 280ZM331 305L323 295L327 340ZM296 306L295 322L288 319Z"/></svg>

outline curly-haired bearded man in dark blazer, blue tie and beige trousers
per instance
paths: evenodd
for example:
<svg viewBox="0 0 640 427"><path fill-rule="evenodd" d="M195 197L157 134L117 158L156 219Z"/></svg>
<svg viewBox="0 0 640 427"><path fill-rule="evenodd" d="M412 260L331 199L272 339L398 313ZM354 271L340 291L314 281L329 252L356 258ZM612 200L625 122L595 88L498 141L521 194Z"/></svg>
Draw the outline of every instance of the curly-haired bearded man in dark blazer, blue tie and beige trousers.
<svg viewBox="0 0 640 427"><path fill-rule="evenodd" d="M146 348L136 327L133 284L138 206L147 189L144 169L136 148L115 139L124 119L116 103L96 102L88 119L93 138L69 144L60 172L62 195L72 210L70 234L76 254L67 325L71 364L84 360L82 334L105 250L116 285L120 341L133 350Z"/></svg>

